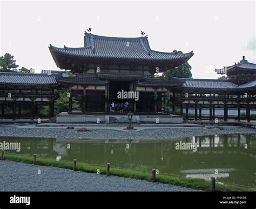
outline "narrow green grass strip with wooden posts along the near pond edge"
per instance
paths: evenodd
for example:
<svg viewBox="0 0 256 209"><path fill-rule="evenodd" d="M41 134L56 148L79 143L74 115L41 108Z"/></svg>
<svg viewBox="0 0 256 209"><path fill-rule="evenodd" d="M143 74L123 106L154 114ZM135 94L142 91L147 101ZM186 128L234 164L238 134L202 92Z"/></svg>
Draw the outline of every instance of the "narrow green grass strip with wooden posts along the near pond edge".
<svg viewBox="0 0 256 209"><path fill-rule="evenodd" d="M22 163L33 164L32 156L20 156L17 154L6 153L5 159L22 162ZM73 170L72 161L70 162L62 161L62 160L56 161L55 159L45 159L45 158L37 157L37 165L54 166L54 167ZM100 174L106 174L106 167L104 166L90 165L86 163L80 163L79 161L77 161L76 167L77 167L77 171L96 173L97 170L99 170ZM134 171L134 170L124 169L124 168L111 167L110 173L112 176L151 181L150 172ZM206 181L203 179L176 177L176 176L170 176L167 174L157 174L156 178L158 182L164 183L164 184L188 187L196 190L210 191L210 181ZM215 190L216 191L256 191L256 188L231 185L231 184L223 185L223 184L216 183Z"/></svg>

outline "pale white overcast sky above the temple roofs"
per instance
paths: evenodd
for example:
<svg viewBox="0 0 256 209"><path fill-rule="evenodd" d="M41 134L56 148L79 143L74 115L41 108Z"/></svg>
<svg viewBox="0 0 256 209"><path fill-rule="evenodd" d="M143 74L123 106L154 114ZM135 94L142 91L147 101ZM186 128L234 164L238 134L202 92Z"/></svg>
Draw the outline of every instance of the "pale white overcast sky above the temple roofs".
<svg viewBox="0 0 256 209"><path fill-rule="evenodd" d="M0 1L0 56L35 72L57 70L49 44L82 47L87 28L114 37L144 31L152 50L193 50L193 78L218 78L214 68L242 56L256 63L255 1Z"/></svg>

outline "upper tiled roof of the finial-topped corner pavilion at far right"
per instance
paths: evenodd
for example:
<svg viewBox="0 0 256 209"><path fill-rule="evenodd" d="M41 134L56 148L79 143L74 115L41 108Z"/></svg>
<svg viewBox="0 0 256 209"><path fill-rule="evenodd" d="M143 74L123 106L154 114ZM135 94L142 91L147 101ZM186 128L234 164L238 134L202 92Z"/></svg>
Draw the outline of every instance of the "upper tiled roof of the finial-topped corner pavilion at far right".
<svg viewBox="0 0 256 209"><path fill-rule="evenodd" d="M227 71L231 71L233 69L240 69L240 70L256 70L256 64L249 63L245 57L242 57L242 60L239 63L235 63L231 66L226 66L223 69L215 69L215 72L218 74L226 74Z"/></svg>

